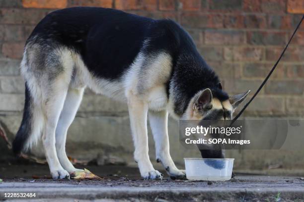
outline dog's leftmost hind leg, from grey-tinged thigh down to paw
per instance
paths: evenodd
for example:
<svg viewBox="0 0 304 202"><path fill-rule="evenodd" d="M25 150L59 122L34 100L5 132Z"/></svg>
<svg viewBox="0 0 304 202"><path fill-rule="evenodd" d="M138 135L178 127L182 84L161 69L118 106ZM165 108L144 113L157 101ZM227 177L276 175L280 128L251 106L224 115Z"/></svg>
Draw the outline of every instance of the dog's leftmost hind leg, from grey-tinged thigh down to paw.
<svg viewBox="0 0 304 202"><path fill-rule="evenodd" d="M52 177L63 179L69 177L61 165L56 152L56 127L63 109L71 83L74 60L69 50L53 50L45 58L46 69L41 72L42 111L45 116L45 126L42 142ZM45 79L44 79L45 78Z"/></svg>

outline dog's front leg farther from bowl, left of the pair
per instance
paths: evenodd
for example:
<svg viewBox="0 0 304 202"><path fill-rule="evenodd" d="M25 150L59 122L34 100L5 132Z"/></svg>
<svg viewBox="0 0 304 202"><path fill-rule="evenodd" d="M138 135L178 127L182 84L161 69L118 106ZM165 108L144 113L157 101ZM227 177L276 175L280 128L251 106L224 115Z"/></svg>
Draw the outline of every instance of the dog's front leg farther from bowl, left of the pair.
<svg viewBox="0 0 304 202"><path fill-rule="evenodd" d="M148 104L135 95L128 97L132 136L135 145L134 158L144 179L162 179L162 174L153 168L149 158L147 114Z"/></svg>

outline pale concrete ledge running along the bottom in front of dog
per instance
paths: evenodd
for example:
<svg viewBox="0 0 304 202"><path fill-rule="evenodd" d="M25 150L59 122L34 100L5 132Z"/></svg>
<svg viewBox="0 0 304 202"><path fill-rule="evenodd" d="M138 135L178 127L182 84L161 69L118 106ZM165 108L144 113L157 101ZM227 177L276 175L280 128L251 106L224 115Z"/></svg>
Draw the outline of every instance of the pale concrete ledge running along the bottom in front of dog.
<svg viewBox="0 0 304 202"><path fill-rule="evenodd" d="M114 199L147 201L222 201L222 200L283 200L304 199L304 181L300 178L239 176L227 182L203 181L105 179L103 181L53 181L16 182L0 184L3 193L36 193L35 199Z"/></svg>

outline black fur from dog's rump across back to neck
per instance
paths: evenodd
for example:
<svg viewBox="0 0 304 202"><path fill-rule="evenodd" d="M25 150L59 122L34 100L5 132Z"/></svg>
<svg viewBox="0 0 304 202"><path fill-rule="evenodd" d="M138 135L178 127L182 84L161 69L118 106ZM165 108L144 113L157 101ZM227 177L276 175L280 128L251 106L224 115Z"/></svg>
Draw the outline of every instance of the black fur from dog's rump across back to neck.
<svg viewBox="0 0 304 202"><path fill-rule="evenodd" d="M189 34L172 20L153 20L120 10L73 7L54 11L42 19L27 43L65 46L78 52L95 76L117 80L128 70L140 51L171 55L175 108L182 115L191 98L210 88L221 101L228 95L219 88L219 78L199 54ZM144 47L144 44L147 45Z"/></svg>

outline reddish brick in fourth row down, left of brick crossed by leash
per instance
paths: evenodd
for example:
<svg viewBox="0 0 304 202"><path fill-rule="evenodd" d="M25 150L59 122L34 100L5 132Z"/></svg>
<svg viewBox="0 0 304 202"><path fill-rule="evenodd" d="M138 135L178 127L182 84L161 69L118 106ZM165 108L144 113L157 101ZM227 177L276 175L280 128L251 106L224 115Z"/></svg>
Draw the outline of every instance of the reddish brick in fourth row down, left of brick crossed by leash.
<svg viewBox="0 0 304 202"><path fill-rule="evenodd" d="M224 59L228 61L260 61L263 59L263 48L226 47Z"/></svg>

